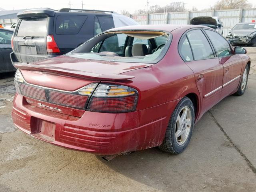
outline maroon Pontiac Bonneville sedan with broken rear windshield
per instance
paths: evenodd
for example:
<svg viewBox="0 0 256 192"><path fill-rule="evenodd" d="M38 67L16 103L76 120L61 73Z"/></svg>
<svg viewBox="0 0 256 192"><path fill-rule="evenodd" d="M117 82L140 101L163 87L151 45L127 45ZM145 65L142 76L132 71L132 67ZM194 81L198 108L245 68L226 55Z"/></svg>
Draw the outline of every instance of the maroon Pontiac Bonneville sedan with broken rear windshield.
<svg viewBox="0 0 256 192"><path fill-rule="evenodd" d="M25 133L100 155L179 154L206 111L244 94L250 58L205 26L146 25L16 68L12 118Z"/></svg>

